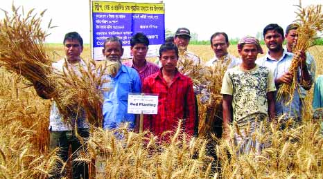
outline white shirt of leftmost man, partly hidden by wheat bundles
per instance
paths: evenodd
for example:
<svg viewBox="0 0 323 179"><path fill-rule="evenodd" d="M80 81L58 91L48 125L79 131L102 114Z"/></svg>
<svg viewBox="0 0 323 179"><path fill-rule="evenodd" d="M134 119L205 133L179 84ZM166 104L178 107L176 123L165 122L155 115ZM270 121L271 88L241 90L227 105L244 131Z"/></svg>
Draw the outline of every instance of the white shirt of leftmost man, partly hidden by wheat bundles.
<svg viewBox="0 0 323 179"><path fill-rule="evenodd" d="M62 73L63 68L65 65L65 59L61 59L58 62L52 64L55 73ZM82 66L84 69L87 69L85 62L81 59L79 63L76 64L69 64L67 63L69 69L75 71L77 75L80 75L79 67ZM85 113L84 111L80 111L81 114L78 114L77 125L78 128L88 128L89 124L85 122ZM71 114L73 115L73 114ZM72 120L71 122L63 122L62 115L58 110L58 106L53 101L51 105L51 113L49 115L49 129L51 131L71 131L74 129L75 121Z"/></svg>

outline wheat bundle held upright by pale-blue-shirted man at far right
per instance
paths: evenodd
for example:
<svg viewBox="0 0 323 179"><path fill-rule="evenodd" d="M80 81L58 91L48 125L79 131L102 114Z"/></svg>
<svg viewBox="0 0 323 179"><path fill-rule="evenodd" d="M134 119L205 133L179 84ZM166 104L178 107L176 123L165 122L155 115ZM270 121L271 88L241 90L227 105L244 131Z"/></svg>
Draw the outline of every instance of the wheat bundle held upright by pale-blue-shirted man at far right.
<svg viewBox="0 0 323 179"><path fill-rule="evenodd" d="M296 20L299 24L297 29L298 39L295 46L293 46L293 53L297 54L299 51L305 52L308 50L316 38L317 31L323 30L323 14L321 9L321 5L299 8L299 12L297 12L298 19ZM277 99L283 99L286 105L292 102L294 91L298 90L297 71L300 62L301 57L295 55L289 68L289 72L293 75L293 82L290 85L282 84L277 93ZM304 82L304 80L301 83L302 85L311 85Z"/></svg>

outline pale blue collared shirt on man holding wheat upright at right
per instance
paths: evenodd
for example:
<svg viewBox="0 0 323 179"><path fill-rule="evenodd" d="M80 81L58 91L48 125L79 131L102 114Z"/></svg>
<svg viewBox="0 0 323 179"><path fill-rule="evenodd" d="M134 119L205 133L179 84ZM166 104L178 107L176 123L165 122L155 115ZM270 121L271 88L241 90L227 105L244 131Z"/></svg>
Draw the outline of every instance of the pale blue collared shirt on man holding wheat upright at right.
<svg viewBox="0 0 323 179"><path fill-rule="evenodd" d="M266 66L272 70L274 73L274 79L281 77L283 74L288 72L290 64L293 60L293 53L288 53L286 50L283 50L283 55L280 59L276 60L270 57L269 52L259 59L256 59L256 64L259 66ZM300 70L297 73L297 80L300 79ZM277 91L279 91L280 86L276 86ZM300 100L299 100L299 93L297 89L294 91L294 98L292 102L286 106L286 102L283 100L277 100L277 92L275 93L276 96L276 103L275 103L275 110L277 115L286 114L286 118L288 117L301 117L300 115Z"/></svg>

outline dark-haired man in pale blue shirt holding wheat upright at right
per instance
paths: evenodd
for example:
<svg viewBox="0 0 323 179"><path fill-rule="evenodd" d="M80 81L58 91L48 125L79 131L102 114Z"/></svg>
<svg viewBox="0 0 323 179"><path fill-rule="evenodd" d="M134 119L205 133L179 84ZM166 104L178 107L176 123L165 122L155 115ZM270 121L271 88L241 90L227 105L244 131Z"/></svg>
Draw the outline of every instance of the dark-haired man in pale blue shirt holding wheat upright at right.
<svg viewBox="0 0 323 179"><path fill-rule="evenodd" d="M293 82L292 73L288 72L290 64L293 60L293 53L288 53L283 49L283 28L278 26L276 23L270 23L263 29L263 37L265 44L268 47L268 53L261 59L257 59L256 63L260 66L266 66L274 73L274 83L278 89L281 84L291 84ZM299 69L297 73L297 81L305 90L309 90L311 86L312 77L311 73L308 71L308 66L306 65L306 57L304 53L299 53L302 57L302 62L299 63ZM277 101L275 103L275 110L277 116L286 115L285 119L292 117L294 120L301 120L300 105L299 105L299 93L295 89L294 97L290 104L286 105L283 100Z"/></svg>

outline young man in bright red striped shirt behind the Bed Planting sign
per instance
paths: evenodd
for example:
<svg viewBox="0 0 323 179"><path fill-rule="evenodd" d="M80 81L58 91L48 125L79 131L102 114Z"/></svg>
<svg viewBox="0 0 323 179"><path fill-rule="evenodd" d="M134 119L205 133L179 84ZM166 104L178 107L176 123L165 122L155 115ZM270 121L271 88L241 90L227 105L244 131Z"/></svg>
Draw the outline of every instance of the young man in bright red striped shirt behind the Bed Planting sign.
<svg viewBox="0 0 323 179"><path fill-rule="evenodd" d="M185 133L193 135L195 102L192 80L178 72L178 48L166 43L159 49L161 69L143 82L143 93L158 94L157 115L145 115L143 128L161 135L173 131L177 122L183 120ZM166 137L167 139L167 137Z"/></svg>

